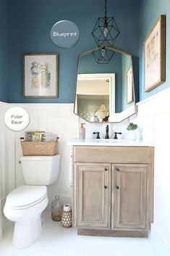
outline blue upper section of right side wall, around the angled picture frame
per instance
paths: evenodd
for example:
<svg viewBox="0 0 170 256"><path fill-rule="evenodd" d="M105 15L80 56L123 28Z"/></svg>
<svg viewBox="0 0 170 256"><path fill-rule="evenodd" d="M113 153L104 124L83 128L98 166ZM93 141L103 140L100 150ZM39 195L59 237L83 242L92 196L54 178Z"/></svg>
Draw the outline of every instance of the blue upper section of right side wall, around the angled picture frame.
<svg viewBox="0 0 170 256"><path fill-rule="evenodd" d="M154 88L152 91L144 92L143 79L143 42L150 33L160 15L166 15L166 82ZM169 0L141 0L139 21L139 57L140 57L140 100L148 98L170 86L170 1Z"/></svg>

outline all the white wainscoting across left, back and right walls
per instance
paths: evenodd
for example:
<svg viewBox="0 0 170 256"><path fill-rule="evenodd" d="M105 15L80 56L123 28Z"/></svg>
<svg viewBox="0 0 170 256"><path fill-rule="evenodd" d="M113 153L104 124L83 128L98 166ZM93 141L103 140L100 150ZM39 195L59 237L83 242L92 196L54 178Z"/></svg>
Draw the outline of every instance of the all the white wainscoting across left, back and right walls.
<svg viewBox="0 0 170 256"><path fill-rule="evenodd" d="M127 123L132 121L139 125L143 140L155 144L154 166L154 222L149 239L156 256L170 255L170 88L151 96L137 104L137 115L122 123L109 124L110 134L121 130L125 133ZM4 125L4 113L9 107L23 107L30 115L30 125L26 131L49 131L59 135L59 154L61 154L61 173L56 184L48 188L49 207L56 194L64 202L70 202L72 189L69 188L70 155L72 149L67 141L78 137L80 122L86 123L86 136L90 138L93 131L100 131L104 136L106 124L90 124L80 120L73 113L73 104L7 104L0 102L0 182L2 207L5 197L16 186L24 183L18 162L22 149L20 137L24 132L13 132Z"/></svg>

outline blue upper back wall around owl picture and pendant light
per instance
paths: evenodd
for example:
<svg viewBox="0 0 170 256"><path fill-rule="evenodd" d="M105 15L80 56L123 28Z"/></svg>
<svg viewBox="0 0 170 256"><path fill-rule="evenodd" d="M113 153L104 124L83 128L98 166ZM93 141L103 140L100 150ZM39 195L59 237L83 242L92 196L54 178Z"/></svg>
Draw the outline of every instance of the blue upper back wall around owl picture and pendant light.
<svg viewBox="0 0 170 256"><path fill-rule="evenodd" d="M8 1L8 102L74 102L77 56L96 46L91 32L97 18L103 17L103 3L103 0ZM113 15L121 31L115 46L137 56L137 1L108 1L108 16ZM71 20L80 29L80 40L70 49L61 49L51 41L51 27L59 20ZM23 54L46 52L59 54L59 98L25 99Z"/></svg>

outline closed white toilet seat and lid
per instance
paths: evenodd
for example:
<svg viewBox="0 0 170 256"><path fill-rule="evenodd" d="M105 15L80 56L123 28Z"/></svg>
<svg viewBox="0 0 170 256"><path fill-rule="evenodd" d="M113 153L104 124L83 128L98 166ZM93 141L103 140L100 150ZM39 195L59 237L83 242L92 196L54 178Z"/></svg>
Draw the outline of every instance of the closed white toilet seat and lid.
<svg viewBox="0 0 170 256"><path fill-rule="evenodd" d="M7 196L6 203L11 209L25 209L38 204L47 197L46 186L19 186Z"/></svg>

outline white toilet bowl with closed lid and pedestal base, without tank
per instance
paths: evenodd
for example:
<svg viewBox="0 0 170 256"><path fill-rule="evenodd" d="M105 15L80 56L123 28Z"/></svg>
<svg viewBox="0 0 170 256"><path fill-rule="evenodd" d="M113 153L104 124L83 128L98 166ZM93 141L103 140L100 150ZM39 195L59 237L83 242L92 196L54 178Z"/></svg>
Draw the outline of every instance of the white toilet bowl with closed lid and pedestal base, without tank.
<svg viewBox="0 0 170 256"><path fill-rule="evenodd" d="M24 199L25 198L25 199ZM41 213L48 205L46 186L19 186L7 196L4 215L15 222L13 245L23 249L41 234Z"/></svg>

